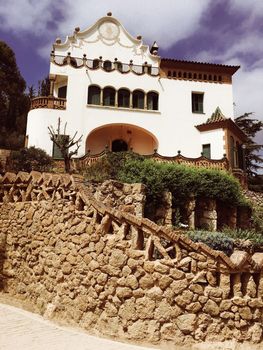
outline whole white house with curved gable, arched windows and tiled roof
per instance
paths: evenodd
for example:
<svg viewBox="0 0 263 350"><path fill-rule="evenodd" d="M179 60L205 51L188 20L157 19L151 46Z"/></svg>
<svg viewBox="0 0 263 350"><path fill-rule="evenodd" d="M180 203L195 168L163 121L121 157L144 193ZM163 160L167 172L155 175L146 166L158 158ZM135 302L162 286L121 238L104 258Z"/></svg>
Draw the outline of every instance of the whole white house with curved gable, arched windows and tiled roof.
<svg viewBox="0 0 263 350"><path fill-rule="evenodd" d="M60 118L69 135L83 135L78 156L105 146L164 156L180 150L191 158L226 154L240 167L244 134L232 121L238 68L161 58L156 43L149 49L109 13L64 43L56 40L50 96L32 101L28 145L55 156L48 126Z"/></svg>

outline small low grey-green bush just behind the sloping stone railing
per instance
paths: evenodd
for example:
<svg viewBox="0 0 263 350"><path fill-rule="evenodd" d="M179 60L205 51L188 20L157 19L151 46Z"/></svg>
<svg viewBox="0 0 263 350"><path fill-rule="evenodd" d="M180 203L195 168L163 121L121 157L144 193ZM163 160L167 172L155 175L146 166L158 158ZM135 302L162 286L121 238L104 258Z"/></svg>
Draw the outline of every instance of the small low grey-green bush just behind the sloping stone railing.
<svg viewBox="0 0 263 350"><path fill-rule="evenodd" d="M202 242L214 250L220 250L231 255L234 250L234 240L222 232L189 231L188 237L193 242Z"/></svg>

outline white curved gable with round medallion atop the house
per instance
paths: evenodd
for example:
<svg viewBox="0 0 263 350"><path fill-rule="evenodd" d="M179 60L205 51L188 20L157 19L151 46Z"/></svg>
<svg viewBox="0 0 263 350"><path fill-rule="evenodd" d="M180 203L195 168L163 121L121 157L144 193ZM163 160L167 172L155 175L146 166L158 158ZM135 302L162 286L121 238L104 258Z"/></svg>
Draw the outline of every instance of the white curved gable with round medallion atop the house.
<svg viewBox="0 0 263 350"><path fill-rule="evenodd" d="M80 31L76 28L73 35L67 36L64 43L58 40L53 45L56 55L66 56L68 52L73 57L88 59L102 57L104 60L119 61L142 65L145 62L159 66L160 58L152 55L148 45L143 45L142 39L134 38L114 17L106 16L99 19L93 26Z"/></svg>

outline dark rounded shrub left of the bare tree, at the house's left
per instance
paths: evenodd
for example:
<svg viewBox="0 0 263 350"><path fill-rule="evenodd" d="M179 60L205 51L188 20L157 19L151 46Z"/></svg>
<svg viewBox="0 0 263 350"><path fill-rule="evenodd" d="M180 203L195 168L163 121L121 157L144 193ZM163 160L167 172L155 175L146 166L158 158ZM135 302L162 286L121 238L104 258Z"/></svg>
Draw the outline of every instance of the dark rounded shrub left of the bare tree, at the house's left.
<svg viewBox="0 0 263 350"><path fill-rule="evenodd" d="M50 171L53 159L42 149L29 147L13 151L10 155L9 168L12 171Z"/></svg>

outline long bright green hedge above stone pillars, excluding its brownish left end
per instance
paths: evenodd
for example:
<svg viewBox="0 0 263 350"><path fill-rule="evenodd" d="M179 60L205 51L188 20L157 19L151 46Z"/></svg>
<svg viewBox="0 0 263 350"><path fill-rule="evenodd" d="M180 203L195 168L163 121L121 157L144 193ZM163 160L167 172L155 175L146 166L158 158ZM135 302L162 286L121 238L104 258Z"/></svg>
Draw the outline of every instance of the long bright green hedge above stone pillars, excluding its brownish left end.
<svg viewBox="0 0 263 350"><path fill-rule="evenodd" d="M241 187L232 175L219 170L194 168L153 160L128 160L118 172L124 182L142 182L152 200L158 202L162 192L172 192L174 205L190 196L206 197L238 205L244 202Z"/></svg>

